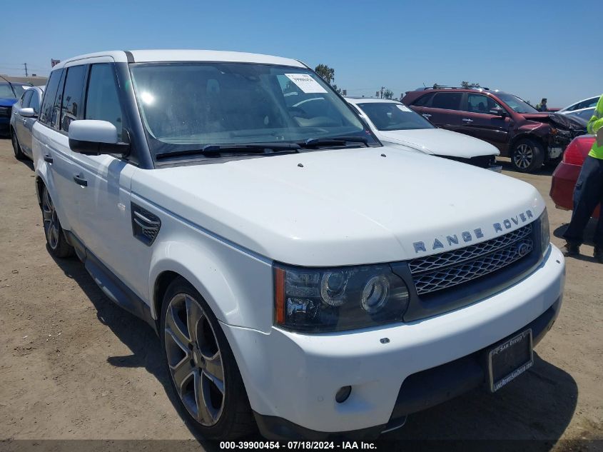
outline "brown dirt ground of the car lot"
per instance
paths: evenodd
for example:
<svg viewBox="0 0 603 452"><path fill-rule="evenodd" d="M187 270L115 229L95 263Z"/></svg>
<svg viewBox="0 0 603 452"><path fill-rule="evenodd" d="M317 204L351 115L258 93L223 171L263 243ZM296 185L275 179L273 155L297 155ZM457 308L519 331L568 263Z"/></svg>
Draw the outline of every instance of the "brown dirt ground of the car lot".
<svg viewBox="0 0 603 452"><path fill-rule="evenodd" d="M542 193L560 246L570 214L549 199L550 169L505 169ZM55 261L46 251L33 166L14 159L8 139L0 139L0 250L0 450L47 439L190 439L178 448L217 450L175 408L151 328L111 303L76 258ZM535 439L538 450L600 450L603 441L580 441L603 440L603 265L589 257L592 246L583 253L567 261L562 311L527 375L496 394L472 391L410 416L387 437Z"/></svg>

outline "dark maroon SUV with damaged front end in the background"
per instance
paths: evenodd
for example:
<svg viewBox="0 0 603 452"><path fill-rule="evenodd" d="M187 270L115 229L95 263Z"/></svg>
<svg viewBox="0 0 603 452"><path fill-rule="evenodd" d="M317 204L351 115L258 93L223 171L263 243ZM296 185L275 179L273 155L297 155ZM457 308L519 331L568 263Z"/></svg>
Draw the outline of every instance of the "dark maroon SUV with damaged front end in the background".
<svg viewBox="0 0 603 452"><path fill-rule="evenodd" d="M586 133L581 121L498 90L437 86L408 91L402 102L436 126L488 141L526 173L559 161L569 141Z"/></svg>

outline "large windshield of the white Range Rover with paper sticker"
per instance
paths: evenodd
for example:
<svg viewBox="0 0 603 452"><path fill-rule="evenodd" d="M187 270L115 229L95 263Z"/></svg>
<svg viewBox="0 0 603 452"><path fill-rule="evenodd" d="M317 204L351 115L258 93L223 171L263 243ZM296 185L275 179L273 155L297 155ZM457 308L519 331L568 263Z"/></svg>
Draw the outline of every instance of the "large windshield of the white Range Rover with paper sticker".
<svg viewBox="0 0 603 452"><path fill-rule="evenodd" d="M154 154L340 136L377 143L350 107L307 69L187 62L132 64L131 74Z"/></svg>

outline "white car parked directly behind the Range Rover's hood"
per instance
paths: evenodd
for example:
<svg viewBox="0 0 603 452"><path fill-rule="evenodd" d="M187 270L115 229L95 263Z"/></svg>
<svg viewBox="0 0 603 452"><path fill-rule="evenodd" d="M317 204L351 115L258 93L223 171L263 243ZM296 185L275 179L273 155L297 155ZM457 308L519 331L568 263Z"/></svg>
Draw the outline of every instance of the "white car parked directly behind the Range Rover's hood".
<svg viewBox="0 0 603 452"><path fill-rule="evenodd" d="M384 144L401 145L425 154L445 157L493 171L501 171L496 164L500 151L486 141L438 129L397 101L388 99L345 98L368 123L373 133Z"/></svg>

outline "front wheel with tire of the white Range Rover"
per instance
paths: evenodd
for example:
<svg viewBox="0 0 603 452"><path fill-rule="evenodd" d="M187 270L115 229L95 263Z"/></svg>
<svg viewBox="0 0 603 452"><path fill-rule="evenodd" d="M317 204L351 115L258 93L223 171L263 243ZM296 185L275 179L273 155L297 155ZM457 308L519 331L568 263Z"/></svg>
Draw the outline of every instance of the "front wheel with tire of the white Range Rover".
<svg viewBox="0 0 603 452"><path fill-rule="evenodd" d="M226 336L206 301L183 278L172 281L163 296L160 336L173 391L199 433L219 441L255 431Z"/></svg>

